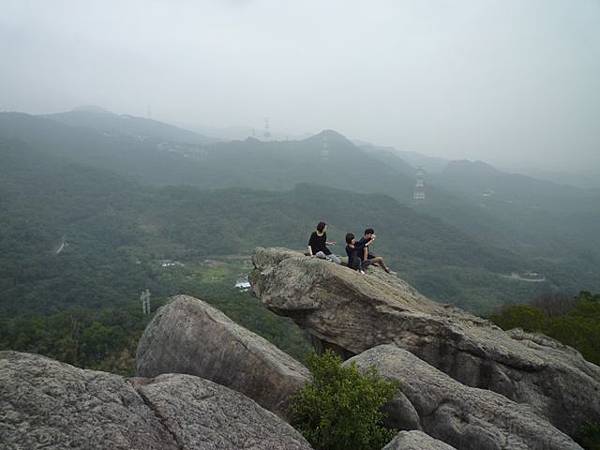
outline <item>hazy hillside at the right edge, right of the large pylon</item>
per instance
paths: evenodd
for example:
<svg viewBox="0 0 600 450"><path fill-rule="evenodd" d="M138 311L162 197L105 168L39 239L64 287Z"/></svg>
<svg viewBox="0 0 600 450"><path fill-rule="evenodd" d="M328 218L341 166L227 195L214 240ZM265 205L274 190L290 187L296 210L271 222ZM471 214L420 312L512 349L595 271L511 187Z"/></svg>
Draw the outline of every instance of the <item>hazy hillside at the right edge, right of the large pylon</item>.
<svg viewBox="0 0 600 450"><path fill-rule="evenodd" d="M582 281L600 279L597 192L470 161L450 163L433 181L470 202L474 210L485 211L504 223L514 233L510 247L534 258L540 271L551 270L549 267L556 264L565 275L579 273Z"/></svg>

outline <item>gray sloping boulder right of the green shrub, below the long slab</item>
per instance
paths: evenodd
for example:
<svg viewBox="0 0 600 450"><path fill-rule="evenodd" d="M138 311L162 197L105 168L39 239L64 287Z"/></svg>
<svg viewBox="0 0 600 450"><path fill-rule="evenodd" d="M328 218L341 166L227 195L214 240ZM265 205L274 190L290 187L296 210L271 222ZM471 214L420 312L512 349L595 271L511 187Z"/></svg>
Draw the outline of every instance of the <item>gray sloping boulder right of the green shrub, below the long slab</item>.
<svg viewBox="0 0 600 450"><path fill-rule="evenodd" d="M417 411L422 430L459 450L581 450L531 407L465 386L394 345L372 348L344 364L352 362L397 380Z"/></svg>

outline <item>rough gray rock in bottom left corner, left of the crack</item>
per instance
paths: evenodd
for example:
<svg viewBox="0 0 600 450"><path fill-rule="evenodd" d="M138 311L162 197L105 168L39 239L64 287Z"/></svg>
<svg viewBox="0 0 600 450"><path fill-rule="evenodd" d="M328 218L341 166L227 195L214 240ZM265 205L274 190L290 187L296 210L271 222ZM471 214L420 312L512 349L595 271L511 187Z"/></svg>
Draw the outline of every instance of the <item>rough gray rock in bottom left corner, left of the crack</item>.
<svg viewBox="0 0 600 450"><path fill-rule="evenodd" d="M16 352L0 352L0 447L179 449L124 378Z"/></svg>

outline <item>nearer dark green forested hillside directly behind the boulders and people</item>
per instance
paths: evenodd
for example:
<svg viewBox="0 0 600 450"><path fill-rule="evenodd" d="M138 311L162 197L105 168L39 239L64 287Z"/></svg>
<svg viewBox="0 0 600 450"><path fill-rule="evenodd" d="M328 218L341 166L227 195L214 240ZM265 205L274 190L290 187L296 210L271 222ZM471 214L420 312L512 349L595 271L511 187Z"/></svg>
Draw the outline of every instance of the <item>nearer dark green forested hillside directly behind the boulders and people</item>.
<svg viewBox="0 0 600 450"><path fill-rule="evenodd" d="M169 295L195 295L302 358L308 344L300 331L233 285L254 246L303 248L321 218L340 241L348 230L375 226L379 251L440 299L471 298L464 304L473 308L487 307L483 298L502 300L488 299L491 289L475 295L468 284L445 290L444 278L470 271L512 295L496 271L518 265L514 255L382 195L309 185L286 192L144 187L18 141L0 142L0 153L1 348L131 374L149 317L139 294L150 289L154 309ZM181 265L165 267L165 260ZM473 280L471 289L480 286Z"/></svg>

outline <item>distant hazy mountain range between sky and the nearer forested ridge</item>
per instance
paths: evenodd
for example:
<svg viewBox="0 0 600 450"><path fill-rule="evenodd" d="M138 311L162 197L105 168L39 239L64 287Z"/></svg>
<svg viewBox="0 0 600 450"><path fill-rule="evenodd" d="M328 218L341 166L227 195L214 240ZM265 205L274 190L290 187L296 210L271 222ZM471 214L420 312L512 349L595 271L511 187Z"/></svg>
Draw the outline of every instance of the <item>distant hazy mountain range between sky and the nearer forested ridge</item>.
<svg viewBox="0 0 600 450"><path fill-rule="evenodd" d="M558 289L600 289L600 195L592 190L454 162L426 174L427 200L415 204L416 168L400 157L405 153L357 146L332 130L303 140L214 142L148 119L79 110L0 113L0 137L146 186L289 191L311 184L384 194L518 254Z"/></svg>

